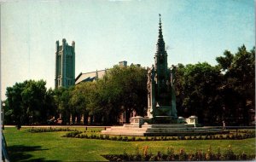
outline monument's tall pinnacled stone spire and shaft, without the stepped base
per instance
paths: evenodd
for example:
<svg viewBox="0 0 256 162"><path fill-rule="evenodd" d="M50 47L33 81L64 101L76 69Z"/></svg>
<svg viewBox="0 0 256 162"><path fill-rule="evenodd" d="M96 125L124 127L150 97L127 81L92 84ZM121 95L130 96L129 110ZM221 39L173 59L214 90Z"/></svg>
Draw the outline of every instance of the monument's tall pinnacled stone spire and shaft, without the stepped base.
<svg viewBox="0 0 256 162"><path fill-rule="evenodd" d="M168 68L161 18L154 65L148 68L148 118L154 122L173 123L177 119L174 71Z"/></svg>

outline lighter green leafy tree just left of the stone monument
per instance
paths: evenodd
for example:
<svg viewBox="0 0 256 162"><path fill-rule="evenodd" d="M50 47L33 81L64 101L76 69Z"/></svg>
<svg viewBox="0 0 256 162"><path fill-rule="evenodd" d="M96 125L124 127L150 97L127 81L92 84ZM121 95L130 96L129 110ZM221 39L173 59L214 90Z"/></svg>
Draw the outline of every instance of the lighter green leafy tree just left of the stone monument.
<svg viewBox="0 0 256 162"><path fill-rule="evenodd" d="M121 113L126 114L129 122L130 113L135 110L144 115L147 106L147 71L142 67L118 67L108 70L104 78L96 83L96 110L104 112L103 119L108 124L118 121ZM98 115L100 116L100 115Z"/></svg>

